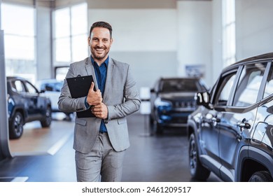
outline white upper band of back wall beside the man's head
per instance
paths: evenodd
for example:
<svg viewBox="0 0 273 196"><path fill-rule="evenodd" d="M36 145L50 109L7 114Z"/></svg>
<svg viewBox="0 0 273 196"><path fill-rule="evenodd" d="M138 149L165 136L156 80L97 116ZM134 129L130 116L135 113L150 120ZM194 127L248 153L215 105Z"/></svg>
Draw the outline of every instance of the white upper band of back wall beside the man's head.
<svg viewBox="0 0 273 196"><path fill-rule="evenodd" d="M99 20L113 27L113 52L176 50L174 9L89 10L88 27Z"/></svg>

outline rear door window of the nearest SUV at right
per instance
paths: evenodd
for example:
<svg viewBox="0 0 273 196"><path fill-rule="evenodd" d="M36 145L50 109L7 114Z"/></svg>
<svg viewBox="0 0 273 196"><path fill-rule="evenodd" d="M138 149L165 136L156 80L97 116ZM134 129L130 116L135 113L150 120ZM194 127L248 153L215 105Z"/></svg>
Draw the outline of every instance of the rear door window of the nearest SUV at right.
<svg viewBox="0 0 273 196"><path fill-rule="evenodd" d="M235 91L233 106L246 107L255 104L266 65L267 63L256 63L244 66Z"/></svg>

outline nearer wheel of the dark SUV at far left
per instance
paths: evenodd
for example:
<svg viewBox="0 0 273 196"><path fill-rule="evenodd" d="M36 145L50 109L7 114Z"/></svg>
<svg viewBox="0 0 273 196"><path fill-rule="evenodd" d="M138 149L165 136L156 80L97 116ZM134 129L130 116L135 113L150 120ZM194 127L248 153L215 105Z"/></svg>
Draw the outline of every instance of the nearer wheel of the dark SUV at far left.
<svg viewBox="0 0 273 196"><path fill-rule="evenodd" d="M22 113L16 112L9 124L10 139L18 139L22 136L24 126L24 118Z"/></svg>

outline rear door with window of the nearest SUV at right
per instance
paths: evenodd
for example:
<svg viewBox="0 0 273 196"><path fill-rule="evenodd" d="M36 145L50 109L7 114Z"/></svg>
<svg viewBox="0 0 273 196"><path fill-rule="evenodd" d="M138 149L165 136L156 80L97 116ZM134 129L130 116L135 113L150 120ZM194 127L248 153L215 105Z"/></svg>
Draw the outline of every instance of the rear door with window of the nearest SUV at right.
<svg viewBox="0 0 273 196"><path fill-rule="evenodd" d="M231 94L227 109L218 116L219 156L221 176L225 181L235 181L235 165L239 151L248 146L258 108L258 94L267 62L241 66L236 90ZM246 152L246 151L245 151Z"/></svg>

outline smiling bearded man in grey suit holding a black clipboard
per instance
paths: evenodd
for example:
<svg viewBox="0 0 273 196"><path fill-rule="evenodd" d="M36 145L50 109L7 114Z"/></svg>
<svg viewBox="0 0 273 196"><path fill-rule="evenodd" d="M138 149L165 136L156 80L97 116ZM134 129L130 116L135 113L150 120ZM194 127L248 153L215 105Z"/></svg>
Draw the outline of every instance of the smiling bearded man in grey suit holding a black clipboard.
<svg viewBox="0 0 273 196"><path fill-rule="evenodd" d="M91 110L95 116L75 119L77 181L121 181L130 146L126 116L139 110L139 92L129 64L109 57L112 43L111 25L94 22L88 37L91 56L72 63L66 74L66 78L92 75L94 83L86 97L72 99L64 80L59 97L60 111Z"/></svg>

